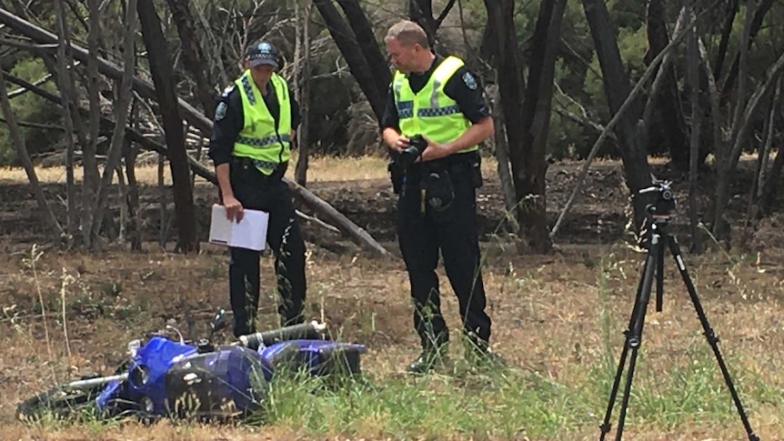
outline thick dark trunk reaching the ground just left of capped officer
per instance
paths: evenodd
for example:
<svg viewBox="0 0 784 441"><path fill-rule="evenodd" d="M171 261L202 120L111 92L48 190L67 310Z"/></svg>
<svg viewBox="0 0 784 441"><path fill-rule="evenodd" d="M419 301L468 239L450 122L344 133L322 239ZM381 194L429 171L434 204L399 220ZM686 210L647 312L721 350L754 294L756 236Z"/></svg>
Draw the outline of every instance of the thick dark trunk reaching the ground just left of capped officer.
<svg viewBox="0 0 784 441"><path fill-rule="evenodd" d="M156 85L158 104L163 115L166 145L169 148L169 166L174 185L177 233L179 235L178 247L183 253L197 252L199 243L196 237L196 211L190 185L182 118L179 115L172 77L172 63L166 53L166 46L160 43L165 41L165 37L152 0L140 0L137 6L139 22L142 25L142 37L148 52L150 71Z"/></svg>

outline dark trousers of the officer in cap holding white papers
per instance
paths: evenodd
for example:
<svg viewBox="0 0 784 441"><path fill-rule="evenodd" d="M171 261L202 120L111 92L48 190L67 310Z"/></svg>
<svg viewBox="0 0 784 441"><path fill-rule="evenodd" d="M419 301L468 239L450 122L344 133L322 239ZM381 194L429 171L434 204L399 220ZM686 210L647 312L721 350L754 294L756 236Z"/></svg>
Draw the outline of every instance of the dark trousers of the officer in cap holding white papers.
<svg viewBox="0 0 784 441"><path fill-rule="evenodd" d="M231 186L246 209L269 213L266 242L275 255L278 313L281 326L301 323L307 283L305 278L305 242L302 238L291 191L281 180L286 169L266 176L245 161L233 160ZM256 332L259 298L259 252L230 248L229 298L234 313L234 334Z"/></svg>

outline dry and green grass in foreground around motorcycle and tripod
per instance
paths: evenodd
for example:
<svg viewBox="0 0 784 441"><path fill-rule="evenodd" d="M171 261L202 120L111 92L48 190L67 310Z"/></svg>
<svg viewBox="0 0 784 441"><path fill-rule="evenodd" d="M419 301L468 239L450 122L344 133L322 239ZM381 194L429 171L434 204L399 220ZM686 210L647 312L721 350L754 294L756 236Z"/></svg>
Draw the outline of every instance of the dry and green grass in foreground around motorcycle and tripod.
<svg viewBox="0 0 784 441"><path fill-rule="evenodd" d="M308 312L326 319L342 339L367 344L363 364L374 389L323 401L327 398L297 385L279 386L276 418L264 427L133 422L30 427L9 422L19 399L56 381L106 372L122 356L127 340L161 328L168 317L182 324L186 307L203 313L204 321L227 299L226 258L215 248L191 257L156 250L100 256L46 252L35 262L37 278L28 256L0 258L4 439L595 439L642 259L613 247L494 257L486 271L494 348L513 368L504 376L484 377L458 366L412 380L400 376L417 353L402 264L315 253L308 258ZM763 262L778 259L763 256ZM774 268L760 272L753 262L687 257L752 426L762 439L784 439L779 317L784 284ZM272 262L266 258L263 265L264 286L272 286ZM64 270L75 277L65 298L70 357L58 313ZM457 302L440 275L447 321L457 329ZM51 359L37 287L49 316ZM262 305L271 320L271 299ZM700 331L678 273L668 263L665 309L648 309L628 439L743 437ZM466 401L471 396L477 400L473 404ZM618 406L614 424L617 416ZM515 432L517 427L525 431Z"/></svg>

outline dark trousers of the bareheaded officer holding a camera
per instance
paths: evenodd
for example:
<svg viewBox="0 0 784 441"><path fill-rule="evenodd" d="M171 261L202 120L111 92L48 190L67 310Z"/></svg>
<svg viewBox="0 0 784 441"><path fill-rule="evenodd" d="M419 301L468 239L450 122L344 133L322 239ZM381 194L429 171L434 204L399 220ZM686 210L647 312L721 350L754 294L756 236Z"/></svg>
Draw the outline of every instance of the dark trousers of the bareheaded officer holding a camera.
<svg viewBox="0 0 784 441"><path fill-rule="evenodd" d="M397 235L411 284L414 327L425 350L449 339L435 271L440 251L447 278L457 295L463 332L482 349L490 338L491 321L485 312L485 287L479 267L476 187L470 166L448 170L454 200L446 210L436 213L426 202L422 213L421 181L428 173L425 165L415 165L408 172L398 200Z"/></svg>

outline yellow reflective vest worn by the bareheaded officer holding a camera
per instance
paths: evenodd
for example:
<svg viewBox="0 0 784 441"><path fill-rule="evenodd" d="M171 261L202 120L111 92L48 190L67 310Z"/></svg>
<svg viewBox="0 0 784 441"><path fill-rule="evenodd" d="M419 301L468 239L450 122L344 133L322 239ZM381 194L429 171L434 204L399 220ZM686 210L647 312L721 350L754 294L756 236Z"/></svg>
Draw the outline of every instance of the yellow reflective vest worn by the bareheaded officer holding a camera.
<svg viewBox="0 0 784 441"><path fill-rule="evenodd" d="M427 84L415 94L406 75L397 71L392 80L400 132L405 136L426 135L439 144L454 141L471 125L457 102L444 93L444 85L463 66L463 60L448 56L437 66ZM477 150L472 145L459 153Z"/></svg>

